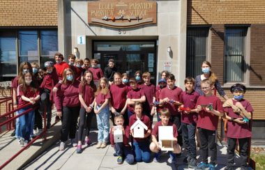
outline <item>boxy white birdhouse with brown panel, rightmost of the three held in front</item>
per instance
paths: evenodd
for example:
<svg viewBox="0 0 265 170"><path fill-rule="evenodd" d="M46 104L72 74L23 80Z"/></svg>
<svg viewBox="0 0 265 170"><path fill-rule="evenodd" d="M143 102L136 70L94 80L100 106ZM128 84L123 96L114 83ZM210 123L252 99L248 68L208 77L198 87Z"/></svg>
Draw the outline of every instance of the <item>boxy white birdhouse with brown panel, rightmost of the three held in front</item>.
<svg viewBox="0 0 265 170"><path fill-rule="evenodd" d="M173 126L159 126L158 138L161 150L174 150L173 148Z"/></svg>

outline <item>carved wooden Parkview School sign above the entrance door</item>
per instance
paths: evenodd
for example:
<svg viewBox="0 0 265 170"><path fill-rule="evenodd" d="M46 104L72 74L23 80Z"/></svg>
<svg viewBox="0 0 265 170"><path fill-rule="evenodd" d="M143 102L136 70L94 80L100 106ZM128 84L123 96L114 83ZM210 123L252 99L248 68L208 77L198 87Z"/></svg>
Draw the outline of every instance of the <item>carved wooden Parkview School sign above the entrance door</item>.
<svg viewBox="0 0 265 170"><path fill-rule="evenodd" d="M89 24L129 28L156 24L156 1L100 0L88 2Z"/></svg>

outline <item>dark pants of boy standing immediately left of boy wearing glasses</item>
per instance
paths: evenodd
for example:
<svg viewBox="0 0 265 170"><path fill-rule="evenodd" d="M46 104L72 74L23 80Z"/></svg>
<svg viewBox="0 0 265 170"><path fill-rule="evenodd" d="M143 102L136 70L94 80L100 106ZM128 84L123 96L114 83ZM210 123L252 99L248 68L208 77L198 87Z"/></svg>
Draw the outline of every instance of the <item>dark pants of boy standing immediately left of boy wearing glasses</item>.
<svg viewBox="0 0 265 170"><path fill-rule="evenodd" d="M196 124L181 123L181 130L183 143L185 144L185 150L187 150L187 156L196 159Z"/></svg>

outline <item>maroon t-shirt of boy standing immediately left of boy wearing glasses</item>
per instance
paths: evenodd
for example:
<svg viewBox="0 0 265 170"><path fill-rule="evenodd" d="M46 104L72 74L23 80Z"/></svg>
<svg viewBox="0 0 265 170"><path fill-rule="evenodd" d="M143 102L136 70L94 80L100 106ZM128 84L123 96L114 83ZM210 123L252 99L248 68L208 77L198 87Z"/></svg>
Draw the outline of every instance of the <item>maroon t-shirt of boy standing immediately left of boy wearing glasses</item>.
<svg viewBox="0 0 265 170"><path fill-rule="evenodd" d="M187 93L187 91L183 91L181 93L181 101L183 103L183 107L187 108L189 107L190 109L195 109L196 102L199 98L199 93L196 91L192 91L192 93ZM183 123L197 123L197 113L190 113L190 114L185 114L184 111L181 112L181 122Z"/></svg>

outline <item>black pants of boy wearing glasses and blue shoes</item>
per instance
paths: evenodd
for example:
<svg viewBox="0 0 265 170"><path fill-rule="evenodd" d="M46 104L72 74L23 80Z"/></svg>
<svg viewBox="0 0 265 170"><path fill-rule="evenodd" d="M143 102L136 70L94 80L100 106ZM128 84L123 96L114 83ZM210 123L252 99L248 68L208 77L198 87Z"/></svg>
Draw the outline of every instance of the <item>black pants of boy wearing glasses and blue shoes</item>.
<svg viewBox="0 0 265 170"><path fill-rule="evenodd" d="M217 146L215 142L215 130L206 130L201 127L199 130L199 141L201 142L202 162L208 163L208 150L211 157L211 164L215 164L217 157Z"/></svg>

